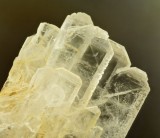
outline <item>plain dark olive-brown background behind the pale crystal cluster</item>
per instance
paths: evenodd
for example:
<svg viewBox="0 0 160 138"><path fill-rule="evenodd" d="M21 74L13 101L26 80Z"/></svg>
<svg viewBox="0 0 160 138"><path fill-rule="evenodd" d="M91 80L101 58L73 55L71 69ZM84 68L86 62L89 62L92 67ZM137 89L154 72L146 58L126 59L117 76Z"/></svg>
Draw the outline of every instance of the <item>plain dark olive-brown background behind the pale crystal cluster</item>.
<svg viewBox="0 0 160 138"><path fill-rule="evenodd" d="M160 0L0 0L0 87L40 22L60 27L79 11L126 47L132 66L148 73L151 92L127 138L160 138Z"/></svg>

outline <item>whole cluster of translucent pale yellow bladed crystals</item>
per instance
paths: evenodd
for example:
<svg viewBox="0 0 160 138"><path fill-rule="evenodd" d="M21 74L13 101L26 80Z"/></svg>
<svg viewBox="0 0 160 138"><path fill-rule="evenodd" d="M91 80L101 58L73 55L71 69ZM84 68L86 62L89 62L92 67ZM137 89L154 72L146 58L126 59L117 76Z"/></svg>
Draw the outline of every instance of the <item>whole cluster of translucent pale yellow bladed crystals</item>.
<svg viewBox="0 0 160 138"><path fill-rule="evenodd" d="M73 13L26 39L0 93L0 138L124 138L148 92L123 46Z"/></svg>

